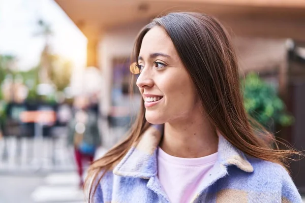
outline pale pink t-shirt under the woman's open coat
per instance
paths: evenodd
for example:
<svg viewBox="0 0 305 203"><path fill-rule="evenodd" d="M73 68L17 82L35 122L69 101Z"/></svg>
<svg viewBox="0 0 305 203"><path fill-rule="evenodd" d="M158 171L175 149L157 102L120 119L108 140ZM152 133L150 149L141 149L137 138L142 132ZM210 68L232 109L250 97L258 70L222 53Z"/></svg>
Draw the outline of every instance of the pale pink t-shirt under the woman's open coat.
<svg viewBox="0 0 305 203"><path fill-rule="evenodd" d="M190 202L199 183L217 160L217 152L200 158L180 158L158 149L158 178L172 203Z"/></svg>

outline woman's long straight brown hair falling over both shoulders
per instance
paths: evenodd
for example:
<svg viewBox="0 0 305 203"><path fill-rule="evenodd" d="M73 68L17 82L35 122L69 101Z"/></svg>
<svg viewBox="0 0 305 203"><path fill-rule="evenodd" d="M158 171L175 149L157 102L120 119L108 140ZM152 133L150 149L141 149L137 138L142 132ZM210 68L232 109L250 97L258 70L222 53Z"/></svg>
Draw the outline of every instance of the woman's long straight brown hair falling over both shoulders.
<svg viewBox="0 0 305 203"><path fill-rule="evenodd" d="M272 149L264 141L264 137L270 133L250 119L243 107L237 58L225 28L214 17L200 13L170 13L156 18L139 32L134 47L134 61L137 61L143 37L155 26L164 28L171 38L195 84L210 122L224 138L252 157L287 167L285 160L294 151L279 150L278 147ZM92 179L100 182L102 176L98 174L111 171L148 126L142 100L129 136L90 166L86 182ZM274 139L272 141L275 143ZM97 186L87 184L87 187L90 197Z"/></svg>

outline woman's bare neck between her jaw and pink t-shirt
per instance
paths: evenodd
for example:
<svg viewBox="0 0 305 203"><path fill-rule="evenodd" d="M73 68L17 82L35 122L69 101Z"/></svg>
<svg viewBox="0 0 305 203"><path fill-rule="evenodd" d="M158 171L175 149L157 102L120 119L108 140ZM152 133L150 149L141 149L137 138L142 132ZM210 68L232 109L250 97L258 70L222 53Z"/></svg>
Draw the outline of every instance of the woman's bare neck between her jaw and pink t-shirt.
<svg viewBox="0 0 305 203"><path fill-rule="evenodd" d="M168 122L160 143L169 155L184 158L198 158L217 152L218 136L208 119L188 119Z"/></svg>

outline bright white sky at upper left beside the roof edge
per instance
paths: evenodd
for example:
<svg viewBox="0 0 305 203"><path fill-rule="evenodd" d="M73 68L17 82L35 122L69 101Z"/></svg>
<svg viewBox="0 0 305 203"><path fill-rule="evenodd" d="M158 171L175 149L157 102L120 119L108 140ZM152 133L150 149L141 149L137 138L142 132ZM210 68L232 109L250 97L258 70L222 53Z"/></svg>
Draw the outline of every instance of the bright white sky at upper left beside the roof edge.
<svg viewBox="0 0 305 203"><path fill-rule="evenodd" d="M44 46L36 35L39 19L51 24L53 52L83 68L86 38L53 0L0 0L0 54L15 55L20 70L37 65Z"/></svg>

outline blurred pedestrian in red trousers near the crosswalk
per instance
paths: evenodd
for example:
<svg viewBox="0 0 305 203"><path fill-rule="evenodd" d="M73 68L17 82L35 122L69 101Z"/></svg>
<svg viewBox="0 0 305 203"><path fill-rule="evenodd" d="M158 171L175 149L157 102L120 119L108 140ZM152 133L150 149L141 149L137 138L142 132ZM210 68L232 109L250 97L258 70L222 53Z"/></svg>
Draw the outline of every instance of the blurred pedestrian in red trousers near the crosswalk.
<svg viewBox="0 0 305 203"><path fill-rule="evenodd" d="M74 99L74 117L69 123L69 144L74 146L74 155L79 175L79 186L83 186L83 161L94 160L95 152L101 144L98 118L89 109L85 95Z"/></svg>

